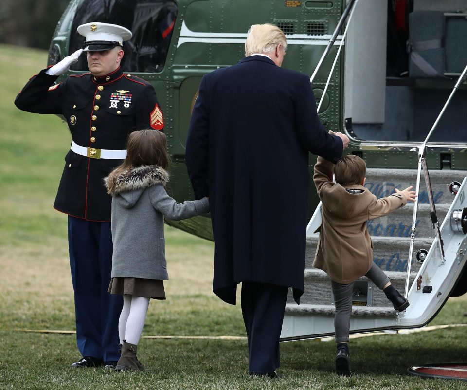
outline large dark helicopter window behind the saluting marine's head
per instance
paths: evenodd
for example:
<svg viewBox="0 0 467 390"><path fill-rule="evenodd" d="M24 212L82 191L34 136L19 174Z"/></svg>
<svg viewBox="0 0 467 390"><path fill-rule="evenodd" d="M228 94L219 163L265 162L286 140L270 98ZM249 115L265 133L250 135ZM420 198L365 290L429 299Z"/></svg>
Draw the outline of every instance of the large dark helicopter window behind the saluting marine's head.
<svg viewBox="0 0 467 390"><path fill-rule="evenodd" d="M124 72L162 72L177 17L173 0L83 0L73 19L68 53L82 48L84 37L76 32L80 24L90 21L119 24L133 33L124 42ZM82 56L72 70L88 70Z"/></svg>

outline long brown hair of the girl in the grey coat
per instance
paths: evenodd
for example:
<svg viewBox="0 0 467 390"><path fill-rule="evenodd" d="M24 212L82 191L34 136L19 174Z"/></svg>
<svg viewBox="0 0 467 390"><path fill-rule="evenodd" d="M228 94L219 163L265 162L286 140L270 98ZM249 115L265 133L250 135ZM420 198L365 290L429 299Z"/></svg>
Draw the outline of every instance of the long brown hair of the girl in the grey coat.
<svg viewBox="0 0 467 390"><path fill-rule="evenodd" d="M107 193L111 194L113 192L116 177L142 165L157 165L168 169L170 157L167 153L167 138L163 132L146 129L130 133L126 146L125 161L108 176Z"/></svg>

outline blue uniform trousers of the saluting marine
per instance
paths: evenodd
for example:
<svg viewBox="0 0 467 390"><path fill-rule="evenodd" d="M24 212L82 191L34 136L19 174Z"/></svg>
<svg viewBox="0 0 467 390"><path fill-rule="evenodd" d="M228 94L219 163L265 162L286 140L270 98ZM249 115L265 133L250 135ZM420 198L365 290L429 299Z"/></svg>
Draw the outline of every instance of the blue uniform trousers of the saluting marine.
<svg viewBox="0 0 467 390"><path fill-rule="evenodd" d="M110 223L69 216L68 246L78 349L83 356L117 361L122 297L107 293L112 263Z"/></svg>

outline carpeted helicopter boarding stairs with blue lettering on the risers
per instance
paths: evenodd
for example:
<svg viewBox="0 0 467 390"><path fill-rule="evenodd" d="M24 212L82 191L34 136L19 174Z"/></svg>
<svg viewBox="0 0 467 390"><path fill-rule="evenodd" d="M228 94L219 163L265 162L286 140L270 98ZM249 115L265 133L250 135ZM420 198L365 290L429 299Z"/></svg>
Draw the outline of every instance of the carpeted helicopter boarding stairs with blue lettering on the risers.
<svg viewBox="0 0 467 390"><path fill-rule="evenodd" d="M408 295L411 306L406 312L396 314L384 293L369 279L362 277L354 284L351 333L423 326L434 315L430 313L436 313L442 307L447 299L447 293L443 288L452 289L466 261L466 251L459 249L467 246L465 234L455 232L450 223L452 210L467 206L467 185L465 186L464 183L466 173L450 169L429 172L438 221L442 225L442 238L445 241L447 260L443 260L437 250L436 234L430 218L427 187L422 174L410 272L410 285L413 287ZM410 185L415 186L416 177L416 169L373 168L367 170L365 187L380 198L394 193L394 188L404 189ZM453 182L461 184L459 195L450 190ZM455 186L454 189L456 189ZM414 204L411 202L394 213L369 221L367 224L374 246L374 262L388 275L401 294L404 294L407 278L413 207ZM312 267L319 239L318 234L313 232L320 223L321 204L307 227L304 295L300 299L300 305L294 302L291 293L287 297L282 340L316 338L334 334L331 283L322 270ZM423 265L416 260L415 256L421 249L429 252L426 263L424 262ZM428 263L431 264L431 268ZM422 266L424 269L421 269ZM438 278L440 280L436 282L440 284L439 286L434 282L436 279L433 277L434 273L440 274L441 279ZM415 280L418 283L413 283ZM431 293L422 292L425 286L429 286L425 290L432 288ZM441 297L440 291L443 293ZM421 307L423 305L427 306L426 310ZM421 316L420 310L423 313ZM411 313L414 313L412 318Z"/></svg>

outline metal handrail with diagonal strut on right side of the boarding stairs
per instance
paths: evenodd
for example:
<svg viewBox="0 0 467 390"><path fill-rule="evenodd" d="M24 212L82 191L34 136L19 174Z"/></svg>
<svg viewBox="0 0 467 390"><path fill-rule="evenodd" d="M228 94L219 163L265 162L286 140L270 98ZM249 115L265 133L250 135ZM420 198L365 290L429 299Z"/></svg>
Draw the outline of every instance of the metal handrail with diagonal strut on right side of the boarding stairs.
<svg viewBox="0 0 467 390"><path fill-rule="evenodd" d="M428 132L427 137L425 138L425 141L422 142L418 149L418 168L417 168L417 181L416 181L416 186L415 186L415 193L418 194L419 189L420 189L420 176L421 176L421 170L423 167L423 173L425 176L425 183L427 185L427 192L429 196L429 202L430 202L430 208L431 208L431 225L433 229L435 229L436 233L436 241L438 244L438 249L439 252L442 256L442 264L445 262L444 258L444 248L443 248L443 240L441 238L441 233L439 231L439 222L438 222L438 217L436 215L436 208L434 205L434 200L433 200L433 194L431 192L431 182L430 182L430 175L428 173L428 167L427 167L427 162L426 162L426 147L428 143L428 139L430 138L431 134L433 133L434 129L438 125L441 116L443 115L444 111L446 111L446 108L448 107L452 96L454 96L454 93L456 93L457 89L459 88L459 85L461 84L462 80L464 79L465 75L467 73L467 64L466 67L464 68L464 71L462 74L459 76L459 79L457 80L456 85L452 89L452 92L449 95L448 100L446 101L445 105L443 106L443 109L439 113L438 117L433 123L433 126L431 127L431 130ZM407 276L406 276L406 281L405 281L405 291L404 291L404 296L407 297L409 293L409 279L410 279L410 271L412 267L412 257L413 257L413 241L415 240L415 224L417 220L417 208L418 208L418 197L415 200L415 204L413 206L413 218L412 218L412 228L411 228L411 235L410 235L410 246L409 246L409 256L407 257Z"/></svg>

